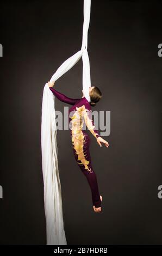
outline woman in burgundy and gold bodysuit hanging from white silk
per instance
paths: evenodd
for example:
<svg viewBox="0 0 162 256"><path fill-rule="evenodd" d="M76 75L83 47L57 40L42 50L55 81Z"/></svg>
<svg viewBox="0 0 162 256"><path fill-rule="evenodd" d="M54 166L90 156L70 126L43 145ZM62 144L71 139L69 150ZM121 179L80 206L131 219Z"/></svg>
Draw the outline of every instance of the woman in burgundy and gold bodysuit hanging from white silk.
<svg viewBox="0 0 162 256"><path fill-rule="evenodd" d="M60 100L72 105L68 110L69 123L71 123L71 139L74 157L78 163L78 166L86 176L92 193L92 203L95 212L101 212L102 196L99 195L97 177L94 169L92 168L91 156L90 156L90 137L88 133L83 130L83 123L85 121L86 126L96 138L97 143L102 147L101 143L104 143L108 148L109 143L105 141L99 135L99 132L95 129L94 121L91 119L91 106L95 106L102 94L98 87L90 87L90 102L86 100L84 93L82 98L71 99L62 93L59 93L53 88L54 82L48 82L51 92ZM83 90L82 90L83 92Z"/></svg>

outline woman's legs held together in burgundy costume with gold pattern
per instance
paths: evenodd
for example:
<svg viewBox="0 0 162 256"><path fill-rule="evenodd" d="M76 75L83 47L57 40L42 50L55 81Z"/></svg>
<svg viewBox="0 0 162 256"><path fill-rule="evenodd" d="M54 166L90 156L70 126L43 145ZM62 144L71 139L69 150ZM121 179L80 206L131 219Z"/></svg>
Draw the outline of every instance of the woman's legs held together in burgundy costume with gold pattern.
<svg viewBox="0 0 162 256"><path fill-rule="evenodd" d="M92 168L89 148L90 137L88 133L82 131L82 135L78 136L78 138L75 136L73 142L74 157L90 185L92 203L96 208L98 208L101 207L101 199L98 190L97 176L94 169Z"/></svg>

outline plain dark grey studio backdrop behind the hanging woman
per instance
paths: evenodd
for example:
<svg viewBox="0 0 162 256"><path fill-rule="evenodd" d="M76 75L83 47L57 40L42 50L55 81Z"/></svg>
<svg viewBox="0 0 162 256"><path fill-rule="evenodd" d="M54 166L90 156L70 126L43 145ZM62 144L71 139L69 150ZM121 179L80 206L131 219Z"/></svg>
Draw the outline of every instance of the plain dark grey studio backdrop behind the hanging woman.
<svg viewBox="0 0 162 256"><path fill-rule="evenodd" d="M1 245L45 245L41 169L43 87L82 46L83 1L2 1ZM111 111L109 148L91 136L91 157L103 196L102 213L71 151L69 131L58 131L58 159L68 245L162 244L160 1L91 3L88 53L91 83ZM82 59L55 83L82 96ZM78 90L78 88L80 88ZM63 102L55 108L63 111Z"/></svg>

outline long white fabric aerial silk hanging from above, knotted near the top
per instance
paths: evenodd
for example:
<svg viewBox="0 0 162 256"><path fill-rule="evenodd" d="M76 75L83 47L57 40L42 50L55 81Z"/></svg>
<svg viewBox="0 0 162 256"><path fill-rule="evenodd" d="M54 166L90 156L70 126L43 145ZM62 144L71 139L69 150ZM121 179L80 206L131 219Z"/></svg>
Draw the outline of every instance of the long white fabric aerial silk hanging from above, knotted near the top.
<svg viewBox="0 0 162 256"><path fill-rule="evenodd" d="M84 23L81 50L70 58L66 59L50 80L50 82L58 80L59 77L63 76L65 72L71 69L72 66L74 66L74 64L76 64L82 57L83 93L89 102L89 87L91 87L91 79L87 43L90 22L90 8L91 0L84 0ZM49 90L48 83L46 83L43 89L42 97L41 151L47 245L67 245L64 230L61 184L58 169L57 127L55 123L54 100L55 96L51 90Z"/></svg>

